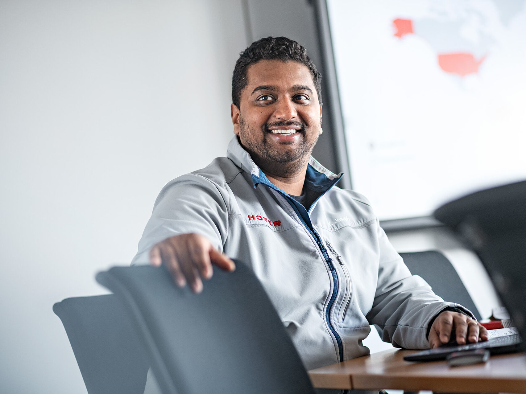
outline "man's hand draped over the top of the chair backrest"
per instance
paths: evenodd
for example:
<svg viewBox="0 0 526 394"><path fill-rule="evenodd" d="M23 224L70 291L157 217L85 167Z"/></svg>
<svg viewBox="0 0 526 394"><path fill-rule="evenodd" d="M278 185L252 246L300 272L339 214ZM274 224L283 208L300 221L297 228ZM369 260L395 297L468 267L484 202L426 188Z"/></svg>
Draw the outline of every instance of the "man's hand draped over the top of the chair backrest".
<svg viewBox="0 0 526 394"><path fill-rule="evenodd" d="M188 282L195 293L203 290L201 278L212 277L212 264L225 271L236 269L227 255L199 234L175 235L155 244L150 250L150 264L159 266L163 263L179 287Z"/></svg>

